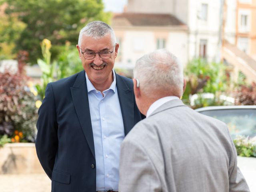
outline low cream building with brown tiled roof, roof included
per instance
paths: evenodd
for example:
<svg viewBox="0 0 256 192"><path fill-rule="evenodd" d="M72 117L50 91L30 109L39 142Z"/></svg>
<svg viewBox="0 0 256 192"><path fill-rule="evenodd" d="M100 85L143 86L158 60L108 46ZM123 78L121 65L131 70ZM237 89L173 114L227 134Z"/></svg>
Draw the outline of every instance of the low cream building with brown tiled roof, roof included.
<svg viewBox="0 0 256 192"><path fill-rule="evenodd" d="M175 54L183 65L188 62L188 28L171 14L115 14L111 26L120 44L116 68L132 70L138 58L161 48Z"/></svg>

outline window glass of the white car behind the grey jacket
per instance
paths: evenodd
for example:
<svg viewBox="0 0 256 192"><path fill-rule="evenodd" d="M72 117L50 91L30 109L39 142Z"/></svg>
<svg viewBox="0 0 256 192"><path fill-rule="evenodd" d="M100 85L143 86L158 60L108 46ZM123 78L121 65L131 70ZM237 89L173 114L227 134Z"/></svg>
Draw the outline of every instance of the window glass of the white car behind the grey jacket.
<svg viewBox="0 0 256 192"><path fill-rule="evenodd" d="M200 113L225 122L232 138L236 135L256 136L256 109L219 109Z"/></svg>

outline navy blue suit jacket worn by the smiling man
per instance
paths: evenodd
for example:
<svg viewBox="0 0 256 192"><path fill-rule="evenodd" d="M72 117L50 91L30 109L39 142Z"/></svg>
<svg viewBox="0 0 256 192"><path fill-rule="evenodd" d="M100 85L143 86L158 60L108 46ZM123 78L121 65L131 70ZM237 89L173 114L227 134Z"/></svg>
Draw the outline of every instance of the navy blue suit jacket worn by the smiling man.
<svg viewBox="0 0 256 192"><path fill-rule="evenodd" d="M125 135L140 121L131 79L116 74ZM96 160L85 72L49 83L38 110L36 152L53 192L95 192Z"/></svg>

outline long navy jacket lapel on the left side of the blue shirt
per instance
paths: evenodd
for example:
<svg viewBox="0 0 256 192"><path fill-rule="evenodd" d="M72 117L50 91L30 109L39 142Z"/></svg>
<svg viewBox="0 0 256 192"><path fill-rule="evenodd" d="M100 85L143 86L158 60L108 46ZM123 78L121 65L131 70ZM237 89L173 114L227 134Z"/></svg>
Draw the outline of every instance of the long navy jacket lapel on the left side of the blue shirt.
<svg viewBox="0 0 256 192"><path fill-rule="evenodd" d="M87 92L86 78L85 78L84 71L78 74L73 87L70 88L70 91L71 91L72 100L75 106L76 114L78 116L80 125L84 132L84 136L95 158L92 123L91 123L88 92Z"/></svg>

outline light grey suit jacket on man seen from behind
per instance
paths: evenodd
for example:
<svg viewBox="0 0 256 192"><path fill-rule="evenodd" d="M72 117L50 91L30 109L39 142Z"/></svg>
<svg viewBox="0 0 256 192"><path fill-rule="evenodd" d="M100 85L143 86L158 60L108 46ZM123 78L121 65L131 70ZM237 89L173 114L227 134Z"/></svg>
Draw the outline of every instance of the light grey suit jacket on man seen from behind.
<svg viewBox="0 0 256 192"><path fill-rule="evenodd" d="M171 100L138 122L120 154L120 192L248 192L223 122Z"/></svg>

